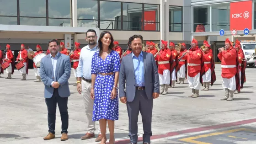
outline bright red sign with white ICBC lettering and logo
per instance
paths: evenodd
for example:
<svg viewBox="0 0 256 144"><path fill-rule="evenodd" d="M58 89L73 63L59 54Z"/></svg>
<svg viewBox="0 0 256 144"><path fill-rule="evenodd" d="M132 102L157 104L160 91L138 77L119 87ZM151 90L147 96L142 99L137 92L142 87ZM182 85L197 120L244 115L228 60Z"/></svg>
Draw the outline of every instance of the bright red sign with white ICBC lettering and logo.
<svg viewBox="0 0 256 144"><path fill-rule="evenodd" d="M241 6L243 5L243 6ZM230 3L230 31L252 29L252 1Z"/></svg>

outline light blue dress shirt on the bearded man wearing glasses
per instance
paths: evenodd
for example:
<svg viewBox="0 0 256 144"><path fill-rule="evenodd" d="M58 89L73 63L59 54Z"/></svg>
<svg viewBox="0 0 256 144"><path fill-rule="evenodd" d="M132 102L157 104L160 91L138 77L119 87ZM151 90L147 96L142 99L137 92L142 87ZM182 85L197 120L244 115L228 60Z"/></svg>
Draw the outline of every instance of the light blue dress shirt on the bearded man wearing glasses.
<svg viewBox="0 0 256 144"><path fill-rule="evenodd" d="M76 68L76 76L91 80L91 61L93 54L98 51L98 44L94 48L89 45L81 49L78 67Z"/></svg>

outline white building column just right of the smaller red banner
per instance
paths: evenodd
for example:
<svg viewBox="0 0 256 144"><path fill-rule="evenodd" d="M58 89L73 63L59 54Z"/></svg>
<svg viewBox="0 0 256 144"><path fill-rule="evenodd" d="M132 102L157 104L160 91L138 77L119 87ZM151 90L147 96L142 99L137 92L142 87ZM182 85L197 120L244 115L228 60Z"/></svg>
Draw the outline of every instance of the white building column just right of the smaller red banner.
<svg viewBox="0 0 256 144"><path fill-rule="evenodd" d="M165 0L160 0L160 44L165 40Z"/></svg>

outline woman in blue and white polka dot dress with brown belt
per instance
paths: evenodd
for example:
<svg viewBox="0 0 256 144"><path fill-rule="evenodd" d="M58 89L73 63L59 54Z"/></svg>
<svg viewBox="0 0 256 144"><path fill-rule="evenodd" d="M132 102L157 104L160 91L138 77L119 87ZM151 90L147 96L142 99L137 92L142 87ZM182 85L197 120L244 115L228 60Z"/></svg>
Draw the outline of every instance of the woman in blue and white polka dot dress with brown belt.
<svg viewBox="0 0 256 144"><path fill-rule="evenodd" d="M101 32L98 47L91 62L91 98L94 99L92 121L100 121L102 140L106 144L106 127L109 127L109 144L115 143L114 125L118 120L117 82L120 69L119 54L112 50L110 32Z"/></svg>

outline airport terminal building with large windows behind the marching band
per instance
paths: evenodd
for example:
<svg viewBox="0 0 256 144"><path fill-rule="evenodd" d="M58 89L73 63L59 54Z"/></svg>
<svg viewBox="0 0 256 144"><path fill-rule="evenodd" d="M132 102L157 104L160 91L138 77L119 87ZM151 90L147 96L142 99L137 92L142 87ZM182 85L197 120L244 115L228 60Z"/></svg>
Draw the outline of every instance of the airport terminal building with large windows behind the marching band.
<svg viewBox="0 0 256 144"><path fill-rule="evenodd" d="M144 40L169 40L199 44L208 40L216 56L225 38L255 40L254 0L1 0L0 49L9 43L16 54L20 44L47 49L49 39L86 45L85 32L99 35L110 31L125 50L128 38L140 34ZM241 6L242 5L242 6ZM237 23L237 20L241 22ZM235 25L234 25L235 24ZM246 25L245 25L246 24ZM244 35L243 27L250 30ZM236 34L232 36L232 28ZM220 30L224 36L220 36ZM216 53L215 53L216 52ZM217 56L215 58L217 60Z"/></svg>

